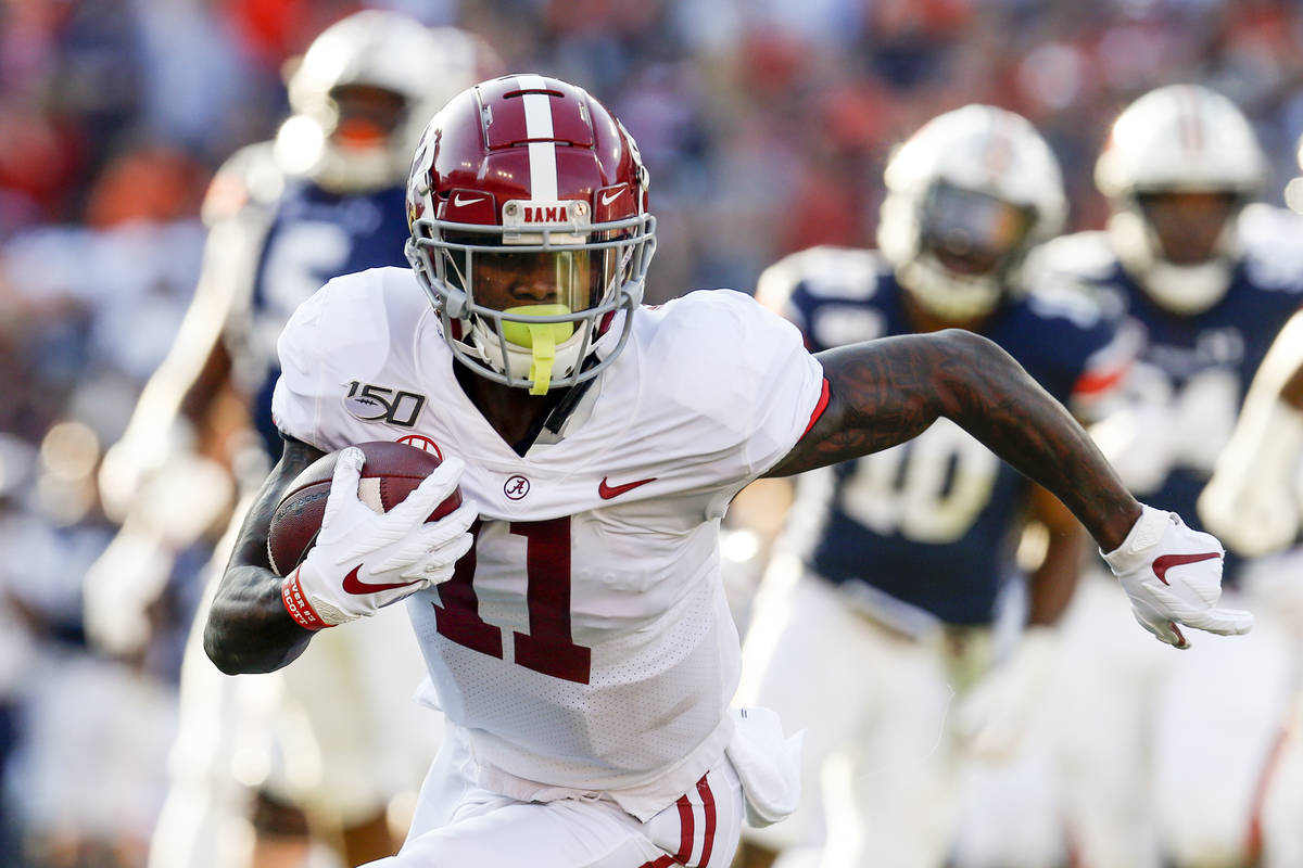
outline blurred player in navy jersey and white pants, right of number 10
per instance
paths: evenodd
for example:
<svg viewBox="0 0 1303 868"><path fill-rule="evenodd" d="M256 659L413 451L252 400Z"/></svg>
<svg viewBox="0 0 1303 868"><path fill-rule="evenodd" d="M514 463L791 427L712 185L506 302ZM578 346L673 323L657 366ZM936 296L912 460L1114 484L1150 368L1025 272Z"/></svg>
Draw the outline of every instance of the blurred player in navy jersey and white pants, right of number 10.
<svg viewBox="0 0 1303 868"><path fill-rule="evenodd" d="M1095 177L1111 206L1106 230L1055 239L1029 267L1088 288L1141 331L1122 409L1097 440L1136 496L1195 518L1250 379L1303 301L1300 225L1252 203L1259 143L1205 87L1166 86L1128 105ZM1227 557L1229 595L1242 593L1242 563ZM1251 640L1158 657L1114 635L1109 584L1083 582L1053 704L1081 863L1250 864L1289 698L1277 618L1255 606ZM1218 701L1200 701L1209 695Z"/></svg>

